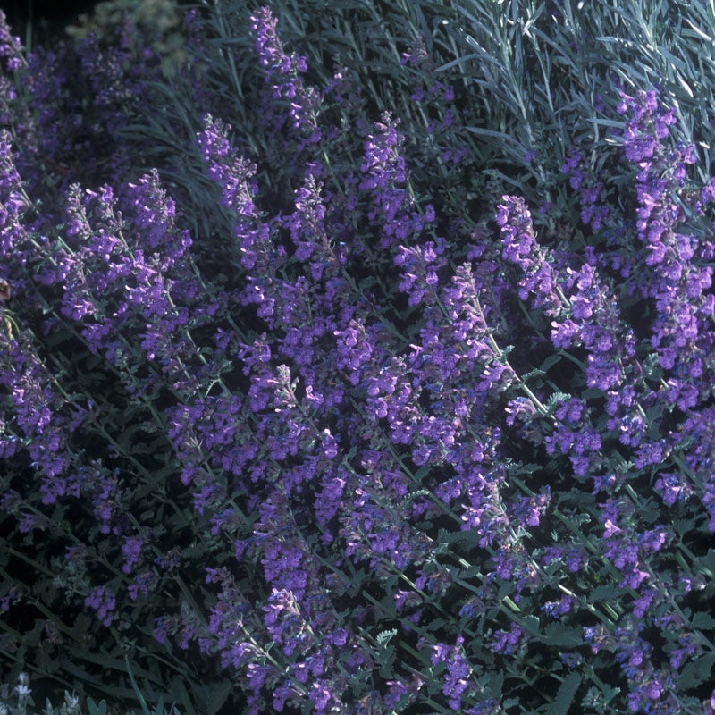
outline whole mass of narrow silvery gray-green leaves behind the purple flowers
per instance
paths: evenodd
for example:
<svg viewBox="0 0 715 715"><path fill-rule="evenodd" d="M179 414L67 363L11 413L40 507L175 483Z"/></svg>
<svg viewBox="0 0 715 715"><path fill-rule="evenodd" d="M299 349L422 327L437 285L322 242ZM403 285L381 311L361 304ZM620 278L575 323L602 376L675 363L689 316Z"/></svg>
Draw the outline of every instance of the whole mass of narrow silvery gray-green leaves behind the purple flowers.
<svg viewBox="0 0 715 715"><path fill-rule="evenodd" d="M612 156L618 132L618 86L627 92L657 87L697 143L702 166L711 164L715 72L713 3L683 0L594 0L585 12L575 0L279 0L271 4L281 38L290 52L307 57L306 81L318 91L343 68L363 97L366 122L384 111L400 117L408 138L413 173L433 177L435 197L443 192L458 206L497 191L516 190L527 202L573 206L561 176L568 147L589 147L593 171ZM263 81L253 38L245 31L257 2L203 0L196 7L209 39L195 48L193 66L205 97L220 105L197 104L189 77L158 88L161 111L147 107L144 126L132 127L154 142L147 167L163 165L164 177L186 189L201 223L198 233L215 234L226 219L202 214L214 204L195 147L199 116L212 111L231 122L241 152L259 164L261 192L291 196L284 157L271 150L255 106ZM428 62L412 66L404 54L423 46ZM425 101L410 99L415 88L442 81L455 88L460 122L442 145L430 129L434 114ZM468 176L445 167L444 143L468 147ZM355 147L342 147L346 160ZM172 156L171 165L163 159ZM262 172L262 164L265 170ZM702 173L702 170L700 170ZM701 176L704 179L704 176ZM499 189L501 187L501 189ZM551 213L551 218L555 214ZM200 218L199 218L200 217ZM219 226L220 228L217 228Z"/></svg>

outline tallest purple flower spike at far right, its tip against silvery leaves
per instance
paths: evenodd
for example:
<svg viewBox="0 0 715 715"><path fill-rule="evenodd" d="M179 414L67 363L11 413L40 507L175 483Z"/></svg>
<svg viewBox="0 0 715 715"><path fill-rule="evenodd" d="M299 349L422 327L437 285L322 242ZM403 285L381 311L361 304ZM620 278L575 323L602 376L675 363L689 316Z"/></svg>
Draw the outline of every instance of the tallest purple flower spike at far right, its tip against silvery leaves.
<svg viewBox="0 0 715 715"><path fill-rule="evenodd" d="M712 350L708 326L715 310L715 301L702 289L711 282L710 266L698 265L700 256L710 255L710 248L680 229L686 211L678 195L686 166L694 163L696 155L693 147L666 145L669 128L677 122L672 109L660 108L655 93L623 98L621 109L630 115L624 146L627 156L641 167L636 185L637 229L652 276L644 282L644 293L655 300L657 311L652 346L660 366L675 373L670 378L669 400L689 410L709 394L702 380L702 356ZM643 147L643 138L650 147L645 161L638 148Z"/></svg>

